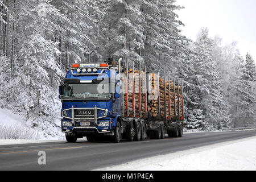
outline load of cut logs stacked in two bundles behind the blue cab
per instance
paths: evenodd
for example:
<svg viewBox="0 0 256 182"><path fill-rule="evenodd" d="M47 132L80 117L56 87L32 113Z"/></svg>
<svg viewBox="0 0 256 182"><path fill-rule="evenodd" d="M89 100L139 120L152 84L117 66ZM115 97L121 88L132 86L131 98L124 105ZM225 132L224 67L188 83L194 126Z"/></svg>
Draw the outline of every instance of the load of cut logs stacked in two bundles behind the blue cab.
<svg viewBox="0 0 256 182"><path fill-rule="evenodd" d="M129 69L129 81L127 82L129 94L125 93L125 109L129 110L129 115L139 116L140 113L142 117L145 117L145 106L147 105L148 115L152 118L160 119L180 119L183 118L183 96L182 87L174 85L171 80L164 80L163 78L158 78L158 74L151 73L149 76L150 84L148 84L148 103L146 104L146 74L144 72L134 71ZM126 74L126 71L125 71ZM134 82L133 82L134 79ZM158 82L159 80L159 82ZM141 86L140 86L141 85ZM170 85L170 93L169 93ZM123 85L124 90L126 90L126 83ZM141 88L141 90L139 89ZM165 91L164 91L165 89ZM141 92L141 94L140 94ZM133 94L134 93L134 94ZM141 95L141 98L140 98ZM178 97L179 96L179 97ZM126 98L127 97L127 98ZM169 99L170 97L170 99ZM126 103L128 100L128 106ZM166 100L166 102L165 102ZM160 105L160 109L159 109ZM170 108L170 109L169 109ZM170 113L169 113L170 111ZM176 114L175 114L176 111Z"/></svg>

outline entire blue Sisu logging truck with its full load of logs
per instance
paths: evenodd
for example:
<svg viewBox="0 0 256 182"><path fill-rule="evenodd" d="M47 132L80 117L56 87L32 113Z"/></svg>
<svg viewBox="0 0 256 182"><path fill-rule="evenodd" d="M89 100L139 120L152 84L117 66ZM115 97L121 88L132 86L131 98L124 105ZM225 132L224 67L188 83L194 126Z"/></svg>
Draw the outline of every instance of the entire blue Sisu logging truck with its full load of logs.
<svg viewBox="0 0 256 182"><path fill-rule="evenodd" d="M59 87L67 142L182 137L182 81L134 65L129 69L128 61L119 59L116 65L79 63L68 69Z"/></svg>

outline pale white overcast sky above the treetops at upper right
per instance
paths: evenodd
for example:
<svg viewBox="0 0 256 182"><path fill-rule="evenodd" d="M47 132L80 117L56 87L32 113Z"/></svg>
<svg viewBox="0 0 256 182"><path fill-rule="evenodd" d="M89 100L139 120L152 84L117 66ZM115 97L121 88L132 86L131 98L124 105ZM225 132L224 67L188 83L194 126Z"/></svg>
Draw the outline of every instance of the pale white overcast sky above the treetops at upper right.
<svg viewBox="0 0 256 182"><path fill-rule="evenodd" d="M245 57L249 52L256 61L256 0L176 0L181 30L195 40L201 28L207 27L211 37L219 35L224 43L238 42Z"/></svg>

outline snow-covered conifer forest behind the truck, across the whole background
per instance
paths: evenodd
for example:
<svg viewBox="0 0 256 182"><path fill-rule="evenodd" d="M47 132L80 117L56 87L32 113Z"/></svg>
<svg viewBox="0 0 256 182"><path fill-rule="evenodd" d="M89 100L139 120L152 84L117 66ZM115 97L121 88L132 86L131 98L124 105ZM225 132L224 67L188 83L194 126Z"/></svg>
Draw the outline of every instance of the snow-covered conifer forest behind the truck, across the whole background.
<svg viewBox="0 0 256 182"><path fill-rule="evenodd" d="M63 135L66 69L127 57L184 80L187 130L256 126L255 60L207 28L196 41L185 37L183 8L175 0L0 0L0 107L45 137Z"/></svg>

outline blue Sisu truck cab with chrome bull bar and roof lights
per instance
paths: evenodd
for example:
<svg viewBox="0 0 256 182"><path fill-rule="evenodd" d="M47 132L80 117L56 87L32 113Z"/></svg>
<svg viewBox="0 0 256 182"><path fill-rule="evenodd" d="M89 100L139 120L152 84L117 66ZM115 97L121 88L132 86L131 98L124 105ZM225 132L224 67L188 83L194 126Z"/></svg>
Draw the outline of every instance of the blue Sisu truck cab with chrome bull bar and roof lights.
<svg viewBox="0 0 256 182"><path fill-rule="evenodd" d="M118 82L118 67L106 63L79 63L68 69L59 87L61 130L68 142L114 138L121 115Z"/></svg>

